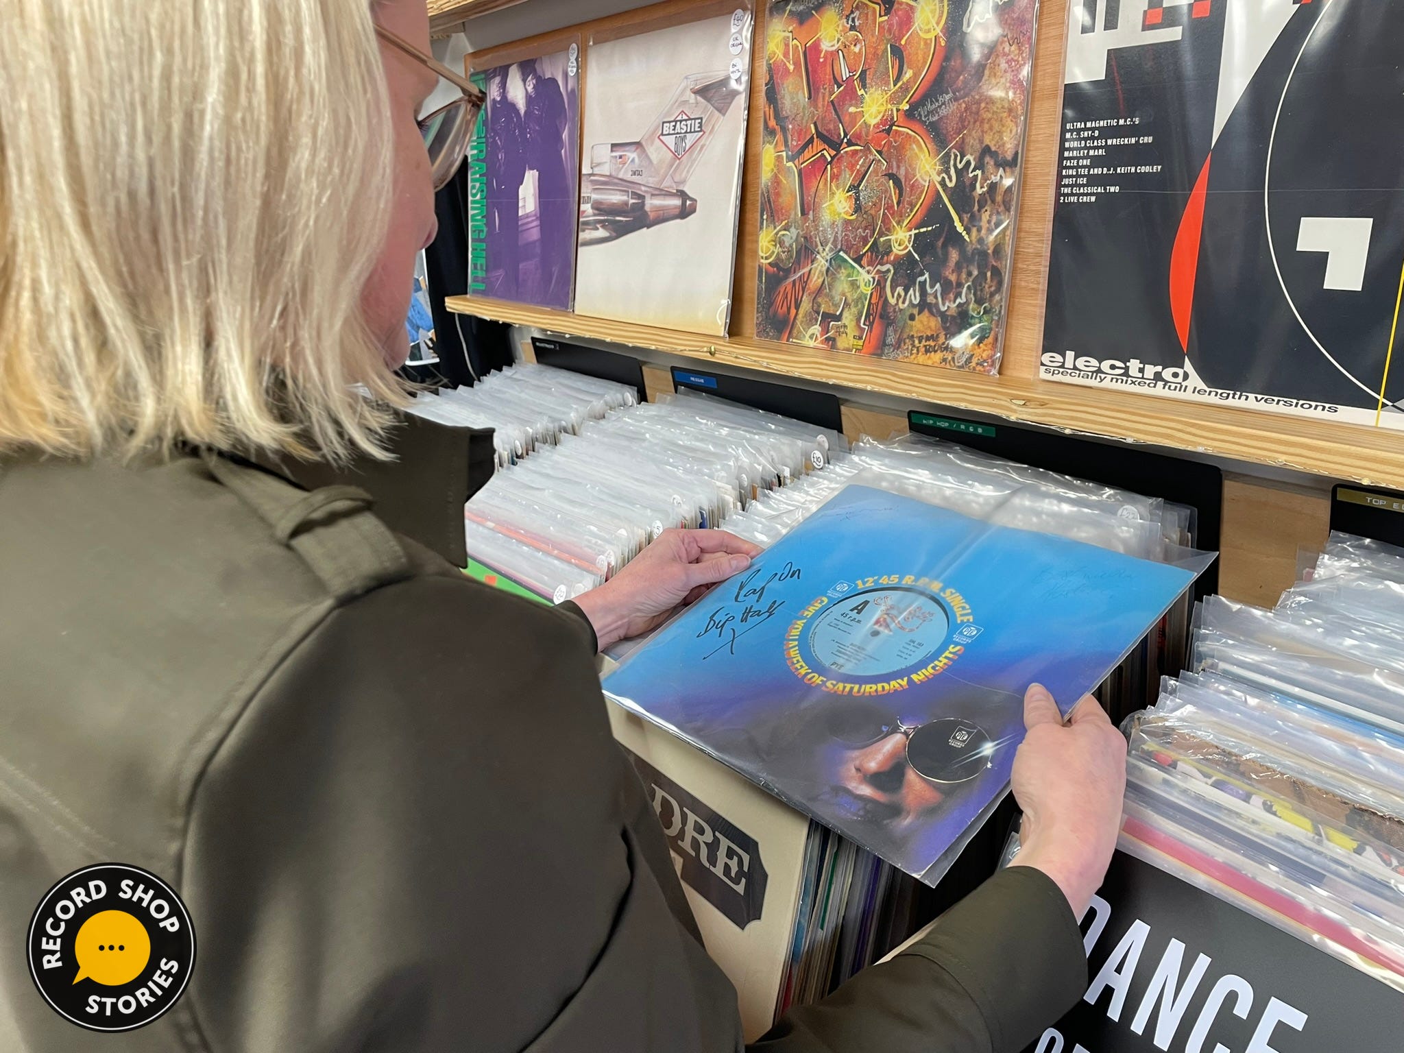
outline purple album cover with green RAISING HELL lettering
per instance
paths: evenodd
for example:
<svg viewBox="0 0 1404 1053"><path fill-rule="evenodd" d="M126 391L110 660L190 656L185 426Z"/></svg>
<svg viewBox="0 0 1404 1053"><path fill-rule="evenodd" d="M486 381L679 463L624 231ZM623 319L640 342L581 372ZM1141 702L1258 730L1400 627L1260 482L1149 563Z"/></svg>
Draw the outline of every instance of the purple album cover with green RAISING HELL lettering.
<svg viewBox="0 0 1404 1053"><path fill-rule="evenodd" d="M580 46L473 74L470 291L566 310L576 271Z"/></svg>

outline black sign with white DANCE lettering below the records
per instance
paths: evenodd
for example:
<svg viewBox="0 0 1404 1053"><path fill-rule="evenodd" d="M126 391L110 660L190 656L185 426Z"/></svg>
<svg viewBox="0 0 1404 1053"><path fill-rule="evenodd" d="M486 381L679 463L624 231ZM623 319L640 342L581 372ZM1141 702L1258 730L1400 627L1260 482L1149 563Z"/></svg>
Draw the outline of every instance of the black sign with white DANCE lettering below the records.
<svg viewBox="0 0 1404 1053"><path fill-rule="evenodd" d="M1087 995L1026 1053L1400 1053L1404 994L1116 854Z"/></svg>

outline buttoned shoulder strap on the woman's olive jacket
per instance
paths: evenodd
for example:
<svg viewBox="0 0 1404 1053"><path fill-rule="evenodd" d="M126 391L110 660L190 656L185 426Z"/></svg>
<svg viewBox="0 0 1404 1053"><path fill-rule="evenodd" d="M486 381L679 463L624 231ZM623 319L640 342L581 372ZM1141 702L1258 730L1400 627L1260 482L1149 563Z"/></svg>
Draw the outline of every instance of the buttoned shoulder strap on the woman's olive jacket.
<svg viewBox="0 0 1404 1053"><path fill-rule="evenodd" d="M411 574L390 528L371 511L373 501L354 486L305 491L251 465L206 452L205 465L296 552L338 602Z"/></svg>

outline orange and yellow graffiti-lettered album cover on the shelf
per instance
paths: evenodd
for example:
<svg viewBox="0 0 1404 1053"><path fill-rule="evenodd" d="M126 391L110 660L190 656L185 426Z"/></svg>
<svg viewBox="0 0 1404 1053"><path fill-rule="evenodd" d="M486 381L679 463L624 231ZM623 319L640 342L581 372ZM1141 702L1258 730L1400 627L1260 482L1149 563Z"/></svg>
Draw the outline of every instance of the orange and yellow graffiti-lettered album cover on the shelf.
<svg viewBox="0 0 1404 1053"><path fill-rule="evenodd" d="M771 0L755 334L995 373L1036 0Z"/></svg>

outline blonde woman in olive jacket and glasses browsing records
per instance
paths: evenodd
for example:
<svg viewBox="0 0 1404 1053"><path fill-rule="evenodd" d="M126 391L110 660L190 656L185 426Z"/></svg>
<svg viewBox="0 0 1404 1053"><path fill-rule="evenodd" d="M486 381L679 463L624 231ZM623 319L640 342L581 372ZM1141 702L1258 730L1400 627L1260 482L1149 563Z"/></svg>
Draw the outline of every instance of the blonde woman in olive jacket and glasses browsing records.
<svg viewBox="0 0 1404 1053"><path fill-rule="evenodd" d="M737 1049L592 651L751 549L671 534L546 611L293 482L380 448L352 385L400 397L479 101L418 119L456 80L423 0L3 0L0 24L0 1047ZM1031 694L1028 866L758 1047L1015 1050L1082 993L1122 751L1078 712ZM76 1021L27 974L35 906L101 862L198 934L128 1035L79 1026L129 1026L114 970L70 984L100 1007Z"/></svg>

